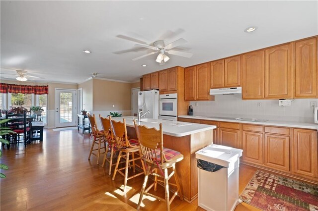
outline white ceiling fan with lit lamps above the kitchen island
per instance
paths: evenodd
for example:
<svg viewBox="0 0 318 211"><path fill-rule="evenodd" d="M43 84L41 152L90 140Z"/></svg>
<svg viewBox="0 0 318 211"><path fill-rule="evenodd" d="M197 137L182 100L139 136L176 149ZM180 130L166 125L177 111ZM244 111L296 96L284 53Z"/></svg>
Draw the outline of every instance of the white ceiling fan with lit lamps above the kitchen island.
<svg viewBox="0 0 318 211"><path fill-rule="evenodd" d="M150 45L145 45L145 44L136 44L135 46L139 46L139 47L143 47L143 48L147 48L147 49L152 49L155 52L151 52L151 53L147 53L145 55L142 56L138 56L136 58L133 58L133 61L136 61L138 59L144 58L146 56L158 53L158 56L156 58L156 61L162 65L164 64L166 61L168 61L170 58L166 55L166 53L171 54L171 55L178 55L178 56L182 56L182 57L187 57L190 58L193 53L186 53L186 52L180 52L180 51L175 51L175 50L171 50L177 46L180 46L182 44L187 43L187 41L183 38L180 38L172 43L169 43L168 45L165 45L165 41L164 40L158 40L156 42L154 42L154 46L150 46Z"/></svg>

